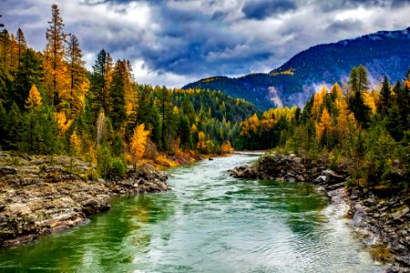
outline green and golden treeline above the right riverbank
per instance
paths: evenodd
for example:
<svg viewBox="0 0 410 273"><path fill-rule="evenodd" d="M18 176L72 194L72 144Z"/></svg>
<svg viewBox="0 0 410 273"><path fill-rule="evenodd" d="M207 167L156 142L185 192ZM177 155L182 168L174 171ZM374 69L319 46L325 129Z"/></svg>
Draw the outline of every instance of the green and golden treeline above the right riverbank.
<svg viewBox="0 0 410 273"><path fill-rule="evenodd" d="M410 70L395 86L384 78L379 88L369 90L364 66L354 67L343 88L337 83L330 92L323 87L302 111L274 109L261 119L252 116L241 124L241 137L251 147L277 147L347 171L350 187L371 187L387 196L395 189L408 191Z"/></svg>

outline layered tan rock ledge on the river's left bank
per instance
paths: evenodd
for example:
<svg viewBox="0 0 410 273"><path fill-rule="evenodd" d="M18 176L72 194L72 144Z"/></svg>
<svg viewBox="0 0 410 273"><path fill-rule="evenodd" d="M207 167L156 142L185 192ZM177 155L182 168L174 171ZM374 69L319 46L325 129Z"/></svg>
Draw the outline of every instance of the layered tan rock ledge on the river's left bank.
<svg viewBox="0 0 410 273"><path fill-rule="evenodd" d="M72 157L12 157L0 152L0 246L87 222L111 197L166 191L167 174L148 164L126 177L90 179L89 163Z"/></svg>

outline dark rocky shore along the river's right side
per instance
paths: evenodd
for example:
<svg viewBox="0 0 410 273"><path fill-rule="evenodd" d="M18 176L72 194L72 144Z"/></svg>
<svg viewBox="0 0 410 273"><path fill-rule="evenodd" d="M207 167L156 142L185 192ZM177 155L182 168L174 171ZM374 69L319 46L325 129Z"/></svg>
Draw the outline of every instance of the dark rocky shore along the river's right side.
<svg viewBox="0 0 410 273"><path fill-rule="evenodd" d="M390 265L387 272L410 272L408 193L390 197L378 197L372 190L364 193L346 187L349 177L346 172L335 172L323 164L277 152L265 154L257 163L235 167L230 172L237 178L313 182L340 208L340 216L352 218L354 231L369 246L373 257Z"/></svg>

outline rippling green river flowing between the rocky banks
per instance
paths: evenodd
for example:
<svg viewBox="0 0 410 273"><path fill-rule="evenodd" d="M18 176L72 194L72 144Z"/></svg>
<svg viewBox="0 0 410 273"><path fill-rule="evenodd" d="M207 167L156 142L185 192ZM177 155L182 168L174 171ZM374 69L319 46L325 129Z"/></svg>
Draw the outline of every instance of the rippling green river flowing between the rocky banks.
<svg viewBox="0 0 410 273"><path fill-rule="evenodd" d="M242 180L233 155L169 170L167 193L120 197L81 227L0 249L0 272L381 272L309 183Z"/></svg>

